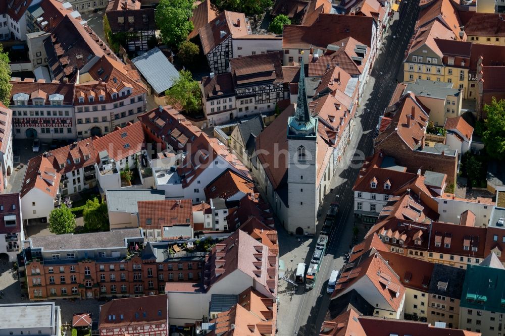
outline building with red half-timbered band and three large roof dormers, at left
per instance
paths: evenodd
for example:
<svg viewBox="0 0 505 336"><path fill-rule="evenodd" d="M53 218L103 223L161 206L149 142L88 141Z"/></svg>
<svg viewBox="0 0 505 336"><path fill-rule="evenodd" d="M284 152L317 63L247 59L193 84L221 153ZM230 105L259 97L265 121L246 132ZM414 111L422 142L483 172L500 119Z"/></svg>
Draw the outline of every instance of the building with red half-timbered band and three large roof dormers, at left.
<svg viewBox="0 0 505 336"><path fill-rule="evenodd" d="M75 139L74 84L19 78L11 84L15 138Z"/></svg>

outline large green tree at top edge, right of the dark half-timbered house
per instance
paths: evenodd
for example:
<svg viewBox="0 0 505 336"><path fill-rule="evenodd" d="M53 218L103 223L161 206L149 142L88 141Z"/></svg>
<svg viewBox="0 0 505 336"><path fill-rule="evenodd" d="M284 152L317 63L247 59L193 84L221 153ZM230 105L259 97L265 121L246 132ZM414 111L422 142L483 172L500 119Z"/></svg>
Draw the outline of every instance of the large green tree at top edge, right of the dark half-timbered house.
<svg viewBox="0 0 505 336"><path fill-rule="evenodd" d="M193 30L189 18L193 16L190 0L160 0L156 8L156 25L160 29L163 43L176 46L184 41Z"/></svg>

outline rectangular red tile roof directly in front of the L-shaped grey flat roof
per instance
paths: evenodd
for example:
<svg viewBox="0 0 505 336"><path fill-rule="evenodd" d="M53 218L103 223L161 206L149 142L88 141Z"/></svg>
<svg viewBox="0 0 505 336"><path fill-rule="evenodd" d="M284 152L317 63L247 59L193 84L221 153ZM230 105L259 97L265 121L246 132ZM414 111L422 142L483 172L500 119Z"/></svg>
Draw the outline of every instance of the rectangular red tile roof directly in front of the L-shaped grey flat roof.
<svg viewBox="0 0 505 336"><path fill-rule="evenodd" d="M193 226L193 209L190 199L138 201L137 207L138 223L144 230L163 230L164 227L177 225ZM150 219L150 224L147 223L147 219Z"/></svg>

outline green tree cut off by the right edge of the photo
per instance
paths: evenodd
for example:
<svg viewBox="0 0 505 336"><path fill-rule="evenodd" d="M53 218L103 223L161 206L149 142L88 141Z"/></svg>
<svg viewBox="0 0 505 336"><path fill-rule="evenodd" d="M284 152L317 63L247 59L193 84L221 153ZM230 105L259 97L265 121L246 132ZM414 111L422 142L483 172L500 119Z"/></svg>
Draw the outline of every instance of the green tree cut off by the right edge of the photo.
<svg viewBox="0 0 505 336"><path fill-rule="evenodd" d="M493 97L491 104L484 105L486 130L482 135L482 141L489 156L492 158L505 159L505 100L497 101Z"/></svg>

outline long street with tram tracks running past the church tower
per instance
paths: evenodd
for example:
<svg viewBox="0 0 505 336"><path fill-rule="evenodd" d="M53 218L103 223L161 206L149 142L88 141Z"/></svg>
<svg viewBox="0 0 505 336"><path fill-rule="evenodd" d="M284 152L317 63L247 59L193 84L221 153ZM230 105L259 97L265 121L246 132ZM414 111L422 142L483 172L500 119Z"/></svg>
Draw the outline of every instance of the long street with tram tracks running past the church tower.
<svg viewBox="0 0 505 336"><path fill-rule="evenodd" d="M324 321L330 295L326 293L328 278L333 269L341 269L343 256L350 249L354 217L354 184L364 156L373 152L373 136L378 118L387 107L396 87L396 81L402 80L402 67L405 50L414 31L419 15L417 0L404 0L400 10L395 13L393 22L384 36L384 42L378 53L374 68L361 99L358 116L351 141L345 153L345 162L337 169L332 181L332 190L325 197L320 211L318 229L322 227L329 204L334 200L340 203L336 223L338 227L330 236L329 247L322 261L322 267L316 278L316 285L311 291L304 286L293 286L284 280L279 281L279 313L277 316L278 335L316 335ZM356 156L355 156L356 155ZM308 264L314 251L314 240L289 237L282 229L278 231L280 259L284 261L286 275L291 278L296 264ZM361 232L362 236L364 232Z"/></svg>

